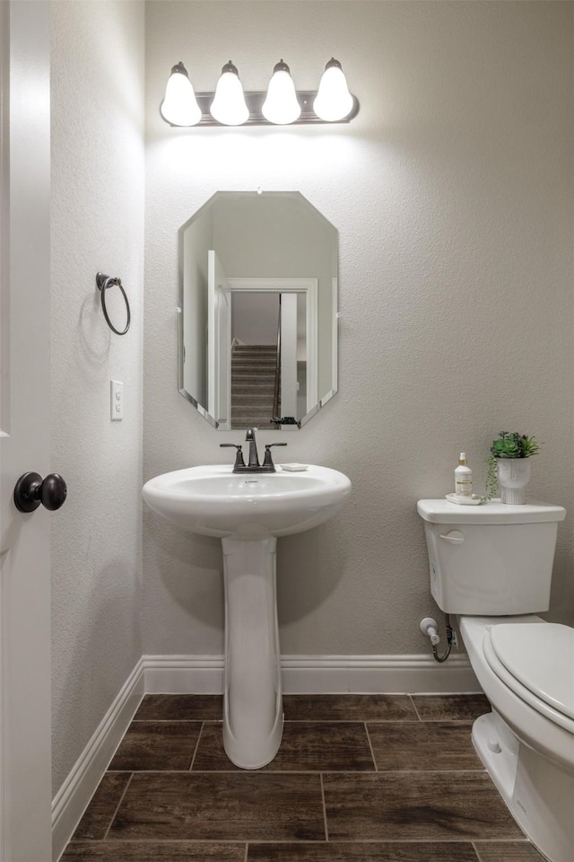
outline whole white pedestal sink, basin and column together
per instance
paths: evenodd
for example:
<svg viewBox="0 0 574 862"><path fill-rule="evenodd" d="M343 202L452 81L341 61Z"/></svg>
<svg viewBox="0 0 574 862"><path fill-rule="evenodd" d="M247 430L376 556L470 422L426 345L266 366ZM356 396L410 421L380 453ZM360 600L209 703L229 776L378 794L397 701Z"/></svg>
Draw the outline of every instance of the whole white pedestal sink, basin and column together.
<svg viewBox="0 0 574 862"><path fill-rule="evenodd" d="M351 494L351 481L315 465L253 474L215 465L164 473L146 482L142 493L158 515L222 540L223 744L236 766L257 770L274 759L283 734L277 537L310 530L335 515Z"/></svg>

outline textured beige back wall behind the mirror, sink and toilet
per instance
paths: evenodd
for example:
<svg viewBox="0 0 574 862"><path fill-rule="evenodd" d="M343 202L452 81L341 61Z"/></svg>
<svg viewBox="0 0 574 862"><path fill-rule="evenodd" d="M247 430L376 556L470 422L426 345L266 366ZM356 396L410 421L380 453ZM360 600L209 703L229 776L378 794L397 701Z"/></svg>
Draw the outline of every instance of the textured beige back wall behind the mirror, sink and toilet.
<svg viewBox="0 0 574 862"><path fill-rule="evenodd" d="M533 497L564 504L552 614L572 611L572 4L149 2L144 478L228 462L177 390L177 231L218 189L299 189L340 232L340 390L290 461L348 473L331 523L278 549L282 651L428 648L419 497L477 486L500 428L544 441ZM338 57L361 112L333 128L171 129L179 59L300 89ZM262 442L277 439L267 432ZM222 555L144 513L144 649L222 652Z"/></svg>

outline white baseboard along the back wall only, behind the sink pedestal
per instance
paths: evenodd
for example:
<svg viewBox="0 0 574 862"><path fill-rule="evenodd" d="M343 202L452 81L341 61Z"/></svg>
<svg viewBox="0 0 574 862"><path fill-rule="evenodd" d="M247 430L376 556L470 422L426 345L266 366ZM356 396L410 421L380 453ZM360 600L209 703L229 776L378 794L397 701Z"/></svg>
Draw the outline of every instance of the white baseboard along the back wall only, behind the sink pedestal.
<svg viewBox="0 0 574 862"><path fill-rule="evenodd" d="M148 694L221 694L222 655L144 655ZM282 655L285 694L460 694L481 687L466 655Z"/></svg>

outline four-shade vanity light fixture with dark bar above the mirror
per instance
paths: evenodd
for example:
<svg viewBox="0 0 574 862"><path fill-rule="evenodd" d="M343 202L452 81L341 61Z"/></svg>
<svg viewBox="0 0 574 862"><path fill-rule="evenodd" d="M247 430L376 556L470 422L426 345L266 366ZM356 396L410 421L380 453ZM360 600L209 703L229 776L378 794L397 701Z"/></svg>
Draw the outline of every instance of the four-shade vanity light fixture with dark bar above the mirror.
<svg viewBox="0 0 574 862"><path fill-rule="evenodd" d="M170 126L299 126L348 123L359 113L359 101L335 57L326 64L318 91L296 91L282 59L266 92L243 92L237 67L229 61L215 92L196 93L180 61L171 69L160 111Z"/></svg>

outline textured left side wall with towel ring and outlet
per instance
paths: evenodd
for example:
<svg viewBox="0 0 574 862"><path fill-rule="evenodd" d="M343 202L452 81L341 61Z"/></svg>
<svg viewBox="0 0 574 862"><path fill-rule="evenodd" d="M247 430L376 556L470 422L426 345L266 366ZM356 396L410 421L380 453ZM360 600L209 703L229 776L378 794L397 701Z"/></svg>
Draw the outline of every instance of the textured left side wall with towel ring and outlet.
<svg viewBox="0 0 574 862"><path fill-rule="evenodd" d="M68 484L52 517L56 790L142 655L144 20L132 2L51 14L52 468ZM124 338L104 321L99 270L126 287Z"/></svg>

